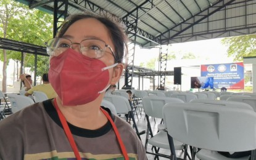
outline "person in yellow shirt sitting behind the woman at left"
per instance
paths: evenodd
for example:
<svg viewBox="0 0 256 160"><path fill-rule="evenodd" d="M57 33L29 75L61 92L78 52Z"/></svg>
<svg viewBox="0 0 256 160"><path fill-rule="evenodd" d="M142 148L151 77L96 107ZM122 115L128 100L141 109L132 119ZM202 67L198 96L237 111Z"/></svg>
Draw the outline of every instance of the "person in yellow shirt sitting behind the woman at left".
<svg viewBox="0 0 256 160"><path fill-rule="evenodd" d="M56 95L57 95L55 90L52 88L51 84L49 83L49 79L48 79L48 74L47 73L43 74L43 84L34 86L30 90L28 90L25 93L25 95L26 96L32 95L34 91L44 92L44 94L46 94L49 99L56 98Z"/></svg>

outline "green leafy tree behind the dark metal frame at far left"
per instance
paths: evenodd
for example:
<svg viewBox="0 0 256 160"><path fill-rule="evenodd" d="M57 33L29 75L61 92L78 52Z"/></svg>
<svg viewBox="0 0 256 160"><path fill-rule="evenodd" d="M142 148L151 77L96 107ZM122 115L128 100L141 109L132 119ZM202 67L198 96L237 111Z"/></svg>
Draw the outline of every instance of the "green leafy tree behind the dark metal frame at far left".
<svg viewBox="0 0 256 160"><path fill-rule="evenodd" d="M0 2L0 20L1 30L0 36L3 38L13 39L16 41L28 42L43 46L47 39L52 38L52 15L41 10L28 9L28 6L19 2L2 0ZM1 60L4 62L2 90L6 90L6 67L9 58L19 63L21 53L11 50L3 50ZM48 71L48 57L38 56L37 59L37 75ZM24 67L31 67L31 71L35 70L35 55L24 53ZM5 73L4 73L5 72Z"/></svg>

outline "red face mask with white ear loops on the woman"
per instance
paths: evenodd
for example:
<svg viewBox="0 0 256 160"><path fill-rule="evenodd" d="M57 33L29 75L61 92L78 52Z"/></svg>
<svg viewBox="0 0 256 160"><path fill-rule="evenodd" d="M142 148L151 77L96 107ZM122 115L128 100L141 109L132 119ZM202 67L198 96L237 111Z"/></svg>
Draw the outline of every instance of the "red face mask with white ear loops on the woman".
<svg viewBox="0 0 256 160"><path fill-rule="evenodd" d="M67 49L50 60L49 82L62 100L62 105L83 105L95 100L109 82L109 71L101 60Z"/></svg>

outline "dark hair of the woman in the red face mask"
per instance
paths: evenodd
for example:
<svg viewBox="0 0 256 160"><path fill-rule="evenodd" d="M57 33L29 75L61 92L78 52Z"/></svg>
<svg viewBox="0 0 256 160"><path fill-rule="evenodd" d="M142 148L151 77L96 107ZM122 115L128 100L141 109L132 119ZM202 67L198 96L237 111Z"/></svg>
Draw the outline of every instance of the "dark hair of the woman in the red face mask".
<svg viewBox="0 0 256 160"><path fill-rule="evenodd" d="M122 25L116 23L114 20L110 20L107 15L94 15L94 14L75 14L62 23L59 33L57 34L57 38L62 37L68 28L78 20L86 19L86 18L94 18L99 20L106 28L109 30L109 36L112 42L114 43L114 50L116 56L116 62L122 63L124 54L127 55L127 36L124 32Z"/></svg>

